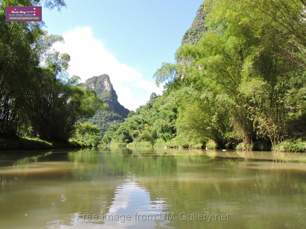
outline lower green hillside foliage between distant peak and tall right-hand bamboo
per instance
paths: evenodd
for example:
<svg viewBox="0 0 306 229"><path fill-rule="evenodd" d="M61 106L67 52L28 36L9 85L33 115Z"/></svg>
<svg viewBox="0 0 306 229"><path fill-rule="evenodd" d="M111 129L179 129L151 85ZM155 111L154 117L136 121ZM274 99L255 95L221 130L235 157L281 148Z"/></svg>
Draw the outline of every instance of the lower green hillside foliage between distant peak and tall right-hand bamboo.
<svg viewBox="0 0 306 229"><path fill-rule="evenodd" d="M103 144L130 144L157 139L166 142L175 136L177 108L166 106L162 96L152 93L150 100L132 112L125 122L114 122L102 139Z"/></svg>

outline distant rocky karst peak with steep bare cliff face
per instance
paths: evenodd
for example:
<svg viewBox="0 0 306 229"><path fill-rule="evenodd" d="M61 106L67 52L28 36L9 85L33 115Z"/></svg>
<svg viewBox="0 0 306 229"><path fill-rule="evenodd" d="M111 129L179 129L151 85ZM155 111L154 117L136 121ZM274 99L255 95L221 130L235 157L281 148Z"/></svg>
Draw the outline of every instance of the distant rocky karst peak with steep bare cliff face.
<svg viewBox="0 0 306 229"><path fill-rule="evenodd" d="M88 122L99 126L102 136L113 121L123 122L127 118L130 111L118 102L117 93L107 74L89 78L85 83L81 83L80 86L94 90L97 96L103 100L103 103L108 104L110 107L110 111L98 110L95 116L88 120Z"/></svg>

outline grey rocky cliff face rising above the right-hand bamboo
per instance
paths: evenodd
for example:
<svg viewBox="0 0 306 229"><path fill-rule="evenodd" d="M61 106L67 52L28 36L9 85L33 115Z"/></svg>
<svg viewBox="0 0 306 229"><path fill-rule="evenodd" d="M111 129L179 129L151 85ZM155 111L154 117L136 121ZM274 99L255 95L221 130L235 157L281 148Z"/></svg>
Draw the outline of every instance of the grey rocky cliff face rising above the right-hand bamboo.
<svg viewBox="0 0 306 229"><path fill-rule="evenodd" d="M203 36L203 33L207 31L205 18L210 12L210 4L212 1L206 0L200 5L191 27L185 32L182 38L182 45L195 44Z"/></svg>

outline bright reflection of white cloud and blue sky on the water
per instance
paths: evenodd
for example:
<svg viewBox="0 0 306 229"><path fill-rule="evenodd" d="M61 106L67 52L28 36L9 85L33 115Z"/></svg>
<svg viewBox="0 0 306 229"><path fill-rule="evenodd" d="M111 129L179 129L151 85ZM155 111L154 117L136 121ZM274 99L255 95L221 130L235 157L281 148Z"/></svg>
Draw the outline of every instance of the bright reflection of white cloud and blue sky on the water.
<svg viewBox="0 0 306 229"><path fill-rule="evenodd" d="M148 192L140 187L134 177L128 177L118 185L115 195L108 202L101 202L99 212L82 212L69 215L68 224L63 220L47 222L48 228L154 228L162 225L159 216L166 205L164 200L150 200ZM97 215L96 220L87 218ZM86 216L84 216L86 215ZM79 217L78 217L79 216ZM129 218L128 218L129 216ZM142 216L153 218L144 219ZM67 222L67 221L66 221Z"/></svg>

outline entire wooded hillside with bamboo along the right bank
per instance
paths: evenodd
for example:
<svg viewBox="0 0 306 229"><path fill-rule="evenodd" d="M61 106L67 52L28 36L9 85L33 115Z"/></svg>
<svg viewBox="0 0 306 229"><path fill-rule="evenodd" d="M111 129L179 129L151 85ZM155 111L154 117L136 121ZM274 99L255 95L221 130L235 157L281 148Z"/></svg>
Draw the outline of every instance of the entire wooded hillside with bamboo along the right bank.
<svg viewBox="0 0 306 229"><path fill-rule="evenodd" d="M304 0L204 1L175 60L104 144L306 151Z"/></svg>

